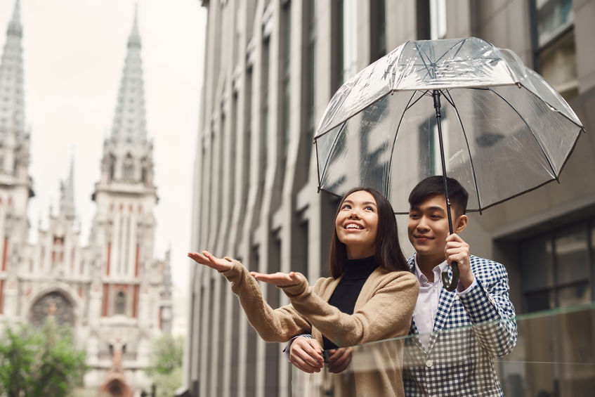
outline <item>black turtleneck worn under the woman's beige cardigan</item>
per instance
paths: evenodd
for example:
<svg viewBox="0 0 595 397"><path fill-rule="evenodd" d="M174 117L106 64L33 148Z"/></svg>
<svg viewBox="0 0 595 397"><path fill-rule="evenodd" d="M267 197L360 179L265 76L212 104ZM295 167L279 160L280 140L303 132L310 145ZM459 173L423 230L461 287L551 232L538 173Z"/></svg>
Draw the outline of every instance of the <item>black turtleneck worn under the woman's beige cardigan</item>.
<svg viewBox="0 0 595 397"><path fill-rule="evenodd" d="M329 304L343 313L353 314L355 301L358 300L362 287L367 278L378 267L374 256L362 259L345 259L343 261L343 278L336 285ZM336 349L338 346L322 335L322 347L325 350Z"/></svg>

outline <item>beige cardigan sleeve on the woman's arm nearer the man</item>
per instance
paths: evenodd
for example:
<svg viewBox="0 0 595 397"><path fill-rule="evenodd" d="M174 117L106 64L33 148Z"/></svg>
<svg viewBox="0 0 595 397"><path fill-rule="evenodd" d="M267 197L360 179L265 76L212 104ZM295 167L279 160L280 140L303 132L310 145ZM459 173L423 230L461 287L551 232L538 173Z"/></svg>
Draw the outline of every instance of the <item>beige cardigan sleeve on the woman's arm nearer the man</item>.
<svg viewBox="0 0 595 397"><path fill-rule="evenodd" d="M419 283L412 273L386 273L372 286L372 297L351 315L342 313L320 297L320 281L314 288L301 282L282 289L295 310L337 346L379 341L406 335L409 331L419 293ZM360 294L363 293L364 289Z"/></svg>

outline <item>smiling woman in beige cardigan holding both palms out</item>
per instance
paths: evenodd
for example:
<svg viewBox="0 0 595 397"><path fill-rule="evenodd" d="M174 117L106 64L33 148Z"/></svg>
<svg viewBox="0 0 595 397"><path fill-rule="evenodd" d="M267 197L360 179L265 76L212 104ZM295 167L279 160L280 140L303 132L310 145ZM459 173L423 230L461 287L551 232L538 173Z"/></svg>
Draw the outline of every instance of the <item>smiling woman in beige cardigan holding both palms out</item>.
<svg viewBox="0 0 595 397"><path fill-rule="evenodd" d="M409 331L419 292L400 251L391 204L370 188L355 188L341 200L329 256L332 277L320 278L314 287L301 273L248 272L240 262L206 251L188 256L232 283L249 322L266 341L310 333L325 349L334 349L400 337ZM280 287L291 304L270 308L256 280ZM355 374L358 396L403 396L400 370L374 374Z"/></svg>

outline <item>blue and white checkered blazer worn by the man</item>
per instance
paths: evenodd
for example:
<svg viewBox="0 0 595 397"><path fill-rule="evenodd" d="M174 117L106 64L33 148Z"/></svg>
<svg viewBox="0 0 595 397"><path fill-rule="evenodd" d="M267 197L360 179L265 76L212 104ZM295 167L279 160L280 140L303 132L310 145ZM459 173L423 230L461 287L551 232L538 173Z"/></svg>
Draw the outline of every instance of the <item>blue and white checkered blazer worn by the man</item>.
<svg viewBox="0 0 595 397"><path fill-rule="evenodd" d="M408 263L413 271L414 258ZM473 255L471 271L477 285L464 296L440 292L429 345L418 337L405 341L405 396L504 396L492 358L516 345L508 274L502 264ZM414 321L410 334L419 334Z"/></svg>

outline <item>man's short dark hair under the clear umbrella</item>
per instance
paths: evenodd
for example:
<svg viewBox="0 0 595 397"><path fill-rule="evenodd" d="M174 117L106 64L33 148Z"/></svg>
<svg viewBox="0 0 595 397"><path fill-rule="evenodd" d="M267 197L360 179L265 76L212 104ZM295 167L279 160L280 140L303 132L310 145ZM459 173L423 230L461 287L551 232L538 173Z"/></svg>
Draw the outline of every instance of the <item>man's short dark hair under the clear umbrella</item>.
<svg viewBox="0 0 595 397"><path fill-rule="evenodd" d="M467 193L465 188L463 188L455 178L447 177L446 184L448 188L448 200L450 200L451 207L455 207L455 214L464 215L467 211L469 193ZM411 207L419 207L419 205L429 199L429 197L438 195L445 195L443 176L429 176L417 183L413 190L411 190L409 204Z"/></svg>

